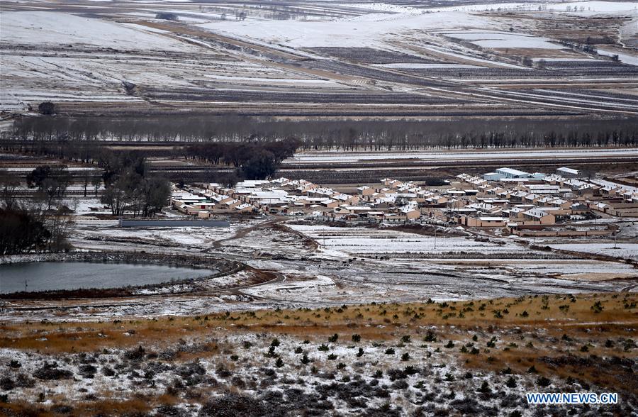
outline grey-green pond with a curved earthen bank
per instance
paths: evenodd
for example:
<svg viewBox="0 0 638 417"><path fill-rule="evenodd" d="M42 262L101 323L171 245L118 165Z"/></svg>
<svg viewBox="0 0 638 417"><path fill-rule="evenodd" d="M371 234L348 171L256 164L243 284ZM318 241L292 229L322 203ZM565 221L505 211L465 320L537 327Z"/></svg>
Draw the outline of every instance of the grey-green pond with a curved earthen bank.
<svg viewBox="0 0 638 417"><path fill-rule="evenodd" d="M0 265L0 294L81 288L118 288L206 277L213 269L157 264L27 262Z"/></svg>

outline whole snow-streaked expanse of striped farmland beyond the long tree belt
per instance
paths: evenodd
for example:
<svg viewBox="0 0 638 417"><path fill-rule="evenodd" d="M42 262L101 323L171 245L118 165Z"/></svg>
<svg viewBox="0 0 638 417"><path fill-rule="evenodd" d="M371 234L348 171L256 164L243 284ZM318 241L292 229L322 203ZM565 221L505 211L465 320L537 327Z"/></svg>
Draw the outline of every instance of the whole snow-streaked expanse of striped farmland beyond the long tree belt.
<svg viewBox="0 0 638 417"><path fill-rule="evenodd" d="M5 116L638 113L629 2L2 5Z"/></svg>

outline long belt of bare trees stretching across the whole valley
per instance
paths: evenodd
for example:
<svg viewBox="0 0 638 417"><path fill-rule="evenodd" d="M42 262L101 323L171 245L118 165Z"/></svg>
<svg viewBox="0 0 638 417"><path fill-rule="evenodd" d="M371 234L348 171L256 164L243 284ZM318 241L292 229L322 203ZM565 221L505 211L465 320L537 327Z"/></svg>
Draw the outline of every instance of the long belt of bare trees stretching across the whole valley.
<svg viewBox="0 0 638 417"><path fill-rule="evenodd" d="M250 116L25 117L2 136L36 142L243 142L300 140L301 150L552 148L638 145L636 118L463 118L452 121L291 120ZM78 150L78 157L81 150Z"/></svg>

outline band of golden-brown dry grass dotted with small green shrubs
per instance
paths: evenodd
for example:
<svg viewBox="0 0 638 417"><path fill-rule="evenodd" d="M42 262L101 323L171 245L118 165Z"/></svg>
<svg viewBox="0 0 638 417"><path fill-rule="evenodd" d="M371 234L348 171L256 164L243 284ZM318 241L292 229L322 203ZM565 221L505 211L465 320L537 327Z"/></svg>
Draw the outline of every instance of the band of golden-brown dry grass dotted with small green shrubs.
<svg viewBox="0 0 638 417"><path fill-rule="evenodd" d="M116 320L93 323L4 323L0 347L40 352L89 352L138 345L168 345L198 338L213 329L249 333L279 333L321 338L359 333L364 340L386 340L397 333L423 333L483 328L537 329L578 332L605 327L607 337L632 336L638 325L634 294L579 294L578 296L526 296L448 303L366 304L317 310L263 310L217 313L196 317L162 317L152 320ZM602 310L594 306L601 306ZM627 308L625 308L627 306ZM133 335L126 335L135 330ZM561 333L562 334L562 333Z"/></svg>

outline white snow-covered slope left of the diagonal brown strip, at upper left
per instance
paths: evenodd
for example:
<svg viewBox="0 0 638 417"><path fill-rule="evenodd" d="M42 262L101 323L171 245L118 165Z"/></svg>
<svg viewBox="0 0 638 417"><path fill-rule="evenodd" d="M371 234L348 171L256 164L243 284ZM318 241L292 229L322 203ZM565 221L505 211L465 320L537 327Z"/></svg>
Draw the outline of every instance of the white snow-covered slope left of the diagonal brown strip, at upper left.
<svg viewBox="0 0 638 417"><path fill-rule="evenodd" d="M200 90L202 84L226 89L250 84L342 88L330 80L230 56L214 43L138 23L57 11L2 11L1 21L1 109L24 110L47 100L143 102L127 94L124 81L162 89Z"/></svg>

